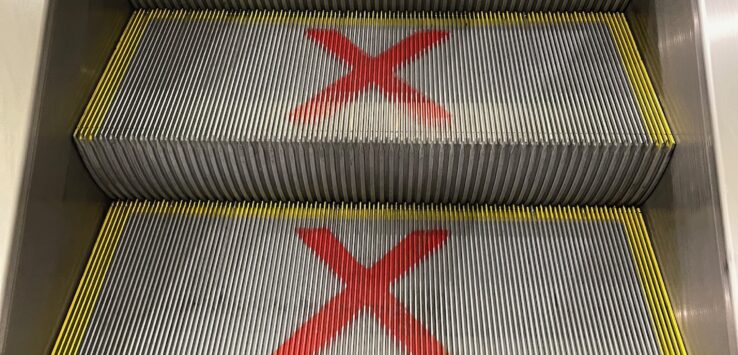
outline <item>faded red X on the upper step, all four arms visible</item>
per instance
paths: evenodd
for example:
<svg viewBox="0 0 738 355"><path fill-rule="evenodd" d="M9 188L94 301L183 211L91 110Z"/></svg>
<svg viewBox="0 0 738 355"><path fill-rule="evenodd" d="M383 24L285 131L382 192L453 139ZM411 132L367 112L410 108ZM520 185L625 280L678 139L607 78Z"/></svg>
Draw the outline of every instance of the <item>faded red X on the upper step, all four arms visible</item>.
<svg viewBox="0 0 738 355"><path fill-rule="evenodd" d="M398 67L448 37L448 32L416 32L375 57L368 55L336 30L308 29L305 35L351 65L352 70L308 102L293 109L290 112L293 120L318 121L341 105L355 100L371 84L390 100L405 104L415 118L425 124L443 123L451 118L451 114L443 107L395 76Z"/></svg>

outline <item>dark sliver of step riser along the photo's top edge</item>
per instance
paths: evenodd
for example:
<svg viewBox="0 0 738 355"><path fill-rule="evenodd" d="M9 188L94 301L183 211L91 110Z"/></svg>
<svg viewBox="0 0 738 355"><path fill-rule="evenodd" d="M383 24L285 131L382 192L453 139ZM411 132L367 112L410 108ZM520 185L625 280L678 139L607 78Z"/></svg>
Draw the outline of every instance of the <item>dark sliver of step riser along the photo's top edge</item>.
<svg viewBox="0 0 738 355"><path fill-rule="evenodd" d="M353 11L623 11L630 0L131 0L143 9Z"/></svg>

